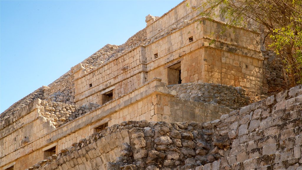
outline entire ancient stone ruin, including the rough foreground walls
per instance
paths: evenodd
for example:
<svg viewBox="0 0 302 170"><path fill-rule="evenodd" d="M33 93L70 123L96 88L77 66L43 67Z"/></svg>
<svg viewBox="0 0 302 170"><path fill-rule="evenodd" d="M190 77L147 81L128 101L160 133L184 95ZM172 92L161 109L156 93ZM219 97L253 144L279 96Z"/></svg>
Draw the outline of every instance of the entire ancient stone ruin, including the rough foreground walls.
<svg viewBox="0 0 302 170"><path fill-rule="evenodd" d="M248 105L267 88L259 34L220 34L200 5L146 16L5 110L0 169L299 169L301 86Z"/></svg>

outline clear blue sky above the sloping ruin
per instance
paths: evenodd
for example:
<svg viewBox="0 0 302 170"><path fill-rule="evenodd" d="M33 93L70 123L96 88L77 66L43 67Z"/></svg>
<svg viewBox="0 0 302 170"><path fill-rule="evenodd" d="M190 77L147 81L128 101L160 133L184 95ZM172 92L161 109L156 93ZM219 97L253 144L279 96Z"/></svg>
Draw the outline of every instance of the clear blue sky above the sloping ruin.
<svg viewBox="0 0 302 170"><path fill-rule="evenodd" d="M182 1L0 1L0 113Z"/></svg>

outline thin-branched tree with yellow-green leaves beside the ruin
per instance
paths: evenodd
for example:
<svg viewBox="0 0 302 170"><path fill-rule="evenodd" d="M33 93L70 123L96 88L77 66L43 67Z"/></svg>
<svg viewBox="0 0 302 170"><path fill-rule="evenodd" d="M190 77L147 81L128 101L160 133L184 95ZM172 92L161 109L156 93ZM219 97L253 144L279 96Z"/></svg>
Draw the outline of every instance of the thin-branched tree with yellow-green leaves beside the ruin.
<svg viewBox="0 0 302 170"><path fill-rule="evenodd" d="M201 15L223 16L226 27L261 32L264 44L284 57L291 86L302 83L302 0L208 0L203 8Z"/></svg>

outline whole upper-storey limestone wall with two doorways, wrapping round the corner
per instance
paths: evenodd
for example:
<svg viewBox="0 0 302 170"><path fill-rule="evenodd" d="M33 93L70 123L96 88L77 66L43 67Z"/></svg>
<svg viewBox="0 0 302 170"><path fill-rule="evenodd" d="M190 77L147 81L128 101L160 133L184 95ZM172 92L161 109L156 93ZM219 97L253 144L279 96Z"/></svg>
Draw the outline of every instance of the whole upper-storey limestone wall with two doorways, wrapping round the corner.
<svg viewBox="0 0 302 170"><path fill-rule="evenodd" d="M100 104L102 91L114 88L113 98L118 98L154 77L169 84L166 67L174 62L181 63L182 83L222 83L244 87L252 96L261 94L263 57L258 50L258 34L230 28L218 35L223 26L222 22L206 18L182 21L166 34L125 50L92 70L85 64L75 66L72 68L76 94L73 101L77 105ZM137 42L137 36L131 40Z"/></svg>

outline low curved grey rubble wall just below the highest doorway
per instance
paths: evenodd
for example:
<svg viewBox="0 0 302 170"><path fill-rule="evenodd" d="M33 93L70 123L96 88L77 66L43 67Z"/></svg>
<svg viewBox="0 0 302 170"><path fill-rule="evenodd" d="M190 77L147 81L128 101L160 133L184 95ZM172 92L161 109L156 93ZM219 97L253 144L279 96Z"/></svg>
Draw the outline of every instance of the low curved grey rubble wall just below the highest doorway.
<svg viewBox="0 0 302 170"><path fill-rule="evenodd" d="M219 104L231 109L246 106L249 97L242 87L233 87L215 83L185 83L169 86L175 90L180 99L200 101L208 104Z"/></svg>

